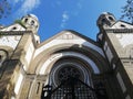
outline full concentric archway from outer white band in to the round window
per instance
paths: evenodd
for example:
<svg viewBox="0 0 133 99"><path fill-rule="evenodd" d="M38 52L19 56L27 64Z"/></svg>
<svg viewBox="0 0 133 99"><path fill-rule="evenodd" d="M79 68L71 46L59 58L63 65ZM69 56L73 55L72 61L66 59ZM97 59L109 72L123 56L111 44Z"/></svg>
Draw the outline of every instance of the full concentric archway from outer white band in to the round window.
<svg viewBox="0 0 133 99"><path fill-rule="evenodd" d="M28 68L28 74L35 75L32 85L39 87L38 84L41 86L49 84L57 87L62 78L74 75L74 78L76 77L94 88L95 80L101 79L96 77L110 69L99 43L82 36L76 36L75 40L60 38L62 37L58 34L41 43L35 50L32 63ZM70 73L64 72L68 69ZM32 87L30 91L32 91Z"/></svg>

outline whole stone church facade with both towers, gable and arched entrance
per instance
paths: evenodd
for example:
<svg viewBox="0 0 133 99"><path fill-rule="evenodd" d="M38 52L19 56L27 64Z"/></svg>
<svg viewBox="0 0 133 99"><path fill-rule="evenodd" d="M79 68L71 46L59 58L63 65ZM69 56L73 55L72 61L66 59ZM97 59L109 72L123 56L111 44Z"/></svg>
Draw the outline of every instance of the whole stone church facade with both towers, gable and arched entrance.
<svg viewBox="0 0 133 99"><path fill-rule="evenodd" d="M1 26L0 97L132 99L133 25L104 12L98 26L96 41L65 30L42 43L33 14Z"/></svg>

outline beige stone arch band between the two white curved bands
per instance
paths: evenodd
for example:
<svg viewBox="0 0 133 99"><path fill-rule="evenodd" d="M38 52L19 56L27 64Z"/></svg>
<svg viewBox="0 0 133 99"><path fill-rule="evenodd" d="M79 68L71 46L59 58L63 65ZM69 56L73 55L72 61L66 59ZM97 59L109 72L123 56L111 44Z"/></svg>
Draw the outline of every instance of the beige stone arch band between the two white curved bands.
<svg viewBox="0 0 133 99"><path fill-rule="evenodd" d="M98 64L98 68L101 73L104 73L110 69L108 63L105 62L104 56L102 56L99 52L86 47L86 46L79 46L79 45L55 45L53 47L48 48L47 51L43 51L40 53L31 63L29 73L34 74L37 68L40 68L43 63L51 56L54 55L54 53L59 52L76 52L85 55L90 59L92 59L95 64Z"/></svg>

